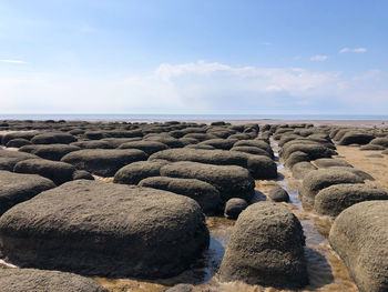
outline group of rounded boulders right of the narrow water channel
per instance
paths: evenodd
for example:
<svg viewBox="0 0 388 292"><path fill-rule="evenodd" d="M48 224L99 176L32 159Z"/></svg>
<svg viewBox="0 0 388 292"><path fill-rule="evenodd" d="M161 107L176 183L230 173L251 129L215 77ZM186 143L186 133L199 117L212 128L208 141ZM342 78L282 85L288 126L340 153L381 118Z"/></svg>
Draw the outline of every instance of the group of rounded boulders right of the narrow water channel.
<svg viewBox="0 0 388 292"><path fill-rule="evenodd" d="M292 130L286 130L292 129ZM333 158L336 144L384 150L387 132L377 129L317 127L300 132L278 128L280 157L296 179L299 197L315 212L335 218L331 248L344 260L360 291L388 291L388 190L365 183L374 180L347 161Z"/></svg>

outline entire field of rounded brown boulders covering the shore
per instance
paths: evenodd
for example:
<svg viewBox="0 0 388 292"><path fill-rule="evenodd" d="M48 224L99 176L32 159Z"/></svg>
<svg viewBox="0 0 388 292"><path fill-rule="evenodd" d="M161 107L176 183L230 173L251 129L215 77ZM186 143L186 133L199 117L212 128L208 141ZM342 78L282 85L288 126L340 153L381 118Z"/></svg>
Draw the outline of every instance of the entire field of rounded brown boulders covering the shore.
<svg viewBox="0 0 388 292"><path fill-rule="evenodd" d="M236 220L221 281L305 286L303 228L276 203L288 193L275 188L255 202L255 180L277 178L270 137L303 179L303 201L337 217L329 241L360 291L387 291L388 192L333 158L335 141L388 147L382 130L53 120L2 121L1 130L10 132L0 134L0 252L25 268L0 270L9 291L67 291L67 281L105 291L81 275L177 275L208 248L205 215ZM170 291L178 289L192 286Z"/></svg>

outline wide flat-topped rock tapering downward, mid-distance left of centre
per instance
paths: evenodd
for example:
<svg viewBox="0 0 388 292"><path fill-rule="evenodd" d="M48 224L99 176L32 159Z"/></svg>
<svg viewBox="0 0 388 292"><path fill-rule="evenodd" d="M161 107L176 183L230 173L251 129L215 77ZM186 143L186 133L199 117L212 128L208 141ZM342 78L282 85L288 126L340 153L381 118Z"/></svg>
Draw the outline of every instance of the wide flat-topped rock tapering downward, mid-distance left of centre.
<svg viewBox="0 0 388 292"><path fill-rule="evenodd" d="M64 155L61 161L96 175L113 177L126 164L146 159L147 155L137 149L84 149Z"/></svg>

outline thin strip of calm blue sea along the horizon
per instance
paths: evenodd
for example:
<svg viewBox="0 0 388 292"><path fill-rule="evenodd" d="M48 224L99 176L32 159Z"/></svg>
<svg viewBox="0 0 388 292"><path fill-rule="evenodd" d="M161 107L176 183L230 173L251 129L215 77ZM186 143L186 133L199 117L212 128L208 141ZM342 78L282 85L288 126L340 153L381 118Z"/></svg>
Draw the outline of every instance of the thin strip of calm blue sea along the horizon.
<svg viewBox="0 0 388 292"><path fill-rule="evenodd" d="M388 120L388 115L349 114L1 114L1 120Z"/></svg>

